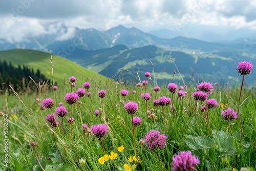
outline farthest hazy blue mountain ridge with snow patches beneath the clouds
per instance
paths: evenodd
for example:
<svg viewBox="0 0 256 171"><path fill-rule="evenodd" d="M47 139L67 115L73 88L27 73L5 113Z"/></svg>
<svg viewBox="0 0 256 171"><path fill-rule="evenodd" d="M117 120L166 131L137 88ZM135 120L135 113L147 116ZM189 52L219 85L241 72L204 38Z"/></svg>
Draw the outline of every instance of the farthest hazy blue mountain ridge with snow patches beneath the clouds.
<svg viewBox="0 0 256 171"><path fill-rule="evenodd" d="M177 36L172 39L159 38L155 35L144 33L133 27L125 28L121 25L111 28L107 31L99 31L94 28L74 29L74 33L69 37L68 28L60 26L59 32L52 34L42 34L39 36L28 36L24 41L10 43L2 39L0 41L0 50L8 49L33 49L52 53L59 53L74 48L84 50L97 50L111 48L115 45L125 45L129 48L139 48L147 45L161 46L162 48L172 49L190 49L204 52L217 51L234 51L241 49L244 42L234 40L229 43L207 42L195 38L186 38ZM59 52L60 51L60 52ZM59 55L58 54L58 55Z"/></svg>

